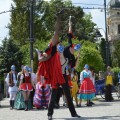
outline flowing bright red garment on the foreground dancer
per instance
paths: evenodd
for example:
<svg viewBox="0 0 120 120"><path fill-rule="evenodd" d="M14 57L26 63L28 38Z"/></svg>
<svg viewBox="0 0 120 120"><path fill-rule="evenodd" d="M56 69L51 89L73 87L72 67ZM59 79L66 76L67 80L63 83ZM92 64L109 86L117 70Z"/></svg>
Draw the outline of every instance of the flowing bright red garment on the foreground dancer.
<svg viewBox="0 0 120 120"><path fill-rule="evenodd" d="M56 52L56 46L52 46L51 43L46 53L47 55L51 54L52 57L45 62L39 63L38 76L44 76L46 84L51 84L52 88L58 88L59 85L65 83L65 80L62 75L60 57Z"/></svg>

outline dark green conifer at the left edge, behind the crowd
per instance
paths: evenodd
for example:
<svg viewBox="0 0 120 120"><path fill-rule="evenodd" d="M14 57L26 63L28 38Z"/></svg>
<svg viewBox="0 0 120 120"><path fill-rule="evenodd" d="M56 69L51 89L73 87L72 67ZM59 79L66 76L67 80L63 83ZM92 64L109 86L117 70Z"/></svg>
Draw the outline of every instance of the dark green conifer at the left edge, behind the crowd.
<svg viewBox="0 0 120 120"><path fill-rule="evenodd" d="M3 45L0 47L0 73L10 71L10 66L14 64L17 70L22 64L23 54L19 51L19 47L13 43L11 39L4 39Z"/></svg>

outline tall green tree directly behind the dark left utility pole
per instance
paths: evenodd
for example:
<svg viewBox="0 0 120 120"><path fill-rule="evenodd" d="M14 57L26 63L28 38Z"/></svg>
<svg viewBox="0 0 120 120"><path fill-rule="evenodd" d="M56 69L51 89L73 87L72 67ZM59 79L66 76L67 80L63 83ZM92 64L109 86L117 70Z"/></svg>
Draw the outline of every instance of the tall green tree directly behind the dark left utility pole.
<svg viewBox="0 0 120 120"><path fill-rule="evenodd" d="M10 38L18 45L25 45L29 41L30 34L30 0L13 0L11 6L11 19L9 28ZM47 36L47 29L44 27L44 15L46 8L41 0L38 4L34 3L34 38L41 39Z"/></svg>

